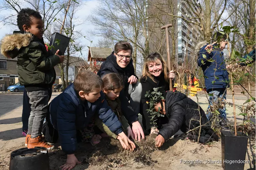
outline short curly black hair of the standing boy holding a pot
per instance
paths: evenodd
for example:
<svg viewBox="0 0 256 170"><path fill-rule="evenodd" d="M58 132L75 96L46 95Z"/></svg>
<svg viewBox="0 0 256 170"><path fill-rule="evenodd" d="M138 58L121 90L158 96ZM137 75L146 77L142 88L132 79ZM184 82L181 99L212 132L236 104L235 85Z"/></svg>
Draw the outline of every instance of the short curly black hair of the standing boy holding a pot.
<svg viewBox="0 0 256 170"><path fill-rule="evenodd" d="M31 24L31 17L42 19L42 16L39 12L32 10L30 8L23 8L19 11L17 16L17 26L19 27L20 31L23 30L23 25L30 26Z"/></svg>

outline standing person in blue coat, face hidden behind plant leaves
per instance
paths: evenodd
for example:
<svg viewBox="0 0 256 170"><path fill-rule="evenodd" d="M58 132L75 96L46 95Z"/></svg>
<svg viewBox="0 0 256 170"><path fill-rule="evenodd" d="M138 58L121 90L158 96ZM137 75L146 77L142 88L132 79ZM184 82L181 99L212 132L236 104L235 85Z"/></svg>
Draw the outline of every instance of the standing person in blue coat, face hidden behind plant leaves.
<svg viewBox="0 0 256 170"><path fill-rule="evenodd" d="M221 38L220 38L221 37ZM218 43L217 40L221 39ZM204 74L204 81L207 93L209 94L210 105L213 106L213 103L218 103L221 99L222 101L226 100L227 90L229 86L228 72L226 70L225 59L223 56L223 49L227 45L227 36L223 35L221 32L216 32L213 34L213 43L206 44L201 47L197 63L198 66L202 68ZM207 109L207 118L211 119L211 106L208 106ZM224 128L228 129L226 124L226 107L223 105L218 109L220 113L220 122L219 124Z"/></svg>

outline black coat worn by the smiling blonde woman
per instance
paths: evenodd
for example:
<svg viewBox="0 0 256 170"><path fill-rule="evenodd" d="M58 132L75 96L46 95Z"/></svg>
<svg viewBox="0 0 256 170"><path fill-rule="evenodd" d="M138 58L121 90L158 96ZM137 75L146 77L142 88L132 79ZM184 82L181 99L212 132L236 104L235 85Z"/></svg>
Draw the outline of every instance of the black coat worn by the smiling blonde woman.
<svg viewBox="0 0 256 170"><path fill-rule="evenodd" d="M146 101L148 101L148 99L145 97L146 92L152 92L153 88L161 87L159 88L159 91L162 93L163 96L165 96L166 91L169 90L169 83L165 81L164 73L161 73L159 77L153 76L153 78L156 83L149 77L142 77L140 79L140 83L142 85L140 113L142 114L143 126L147 131L150 131L154 125L153 120L151 120L150 114L146 111L146 109L149 109L149 106L146 103Z"/></svg>

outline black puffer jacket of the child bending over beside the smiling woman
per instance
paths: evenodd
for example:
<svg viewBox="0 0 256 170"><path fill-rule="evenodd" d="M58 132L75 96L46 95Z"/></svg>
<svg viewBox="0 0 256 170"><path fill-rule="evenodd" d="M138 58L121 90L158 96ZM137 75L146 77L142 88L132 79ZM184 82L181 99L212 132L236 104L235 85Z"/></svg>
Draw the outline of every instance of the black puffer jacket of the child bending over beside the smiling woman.
<svg viewBox="0 0 256 170"><path fill-rule="evenodd" d="M207 123L207 117L200 106L199 110L201 115L201 124L203 125ZM164 125L159 132L165 140L172 137L177 131L179 131L179 129L185 133L200 125L199 122L196 121L200 120L198 104L179 91L167 92L165 98L165 111L169 122ZM209 125L203 126L202 129L203 128L209 129Z"/></svg>

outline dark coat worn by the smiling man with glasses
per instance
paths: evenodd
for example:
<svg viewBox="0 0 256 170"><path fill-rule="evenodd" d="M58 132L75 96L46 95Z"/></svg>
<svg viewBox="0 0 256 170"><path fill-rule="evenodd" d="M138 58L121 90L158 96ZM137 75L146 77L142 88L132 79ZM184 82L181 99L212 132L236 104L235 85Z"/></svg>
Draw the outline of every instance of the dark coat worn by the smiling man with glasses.
<svg viewBox="0 0 256 170"><path fill-rule="evenodd" d="M132 59L130 63L126 66L126 68L121 68L116 63L116 56L114 55L114 52L112 52L112 54L106 58L106 61L102 63L100 70L98 71L97 74L100 77L102 77L103 75L108 73L117 73L123 78L124 89L120 91L119 99L121 101L122 112L125 118L128 120L130 124L139 120L138 115L134 113L133 109L130 107L130 104L129 104L130 95L128 94L128 89L129 89L128 79L129 77L131 77L131 75L136 76L134 73Z"/></svg>

